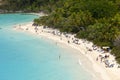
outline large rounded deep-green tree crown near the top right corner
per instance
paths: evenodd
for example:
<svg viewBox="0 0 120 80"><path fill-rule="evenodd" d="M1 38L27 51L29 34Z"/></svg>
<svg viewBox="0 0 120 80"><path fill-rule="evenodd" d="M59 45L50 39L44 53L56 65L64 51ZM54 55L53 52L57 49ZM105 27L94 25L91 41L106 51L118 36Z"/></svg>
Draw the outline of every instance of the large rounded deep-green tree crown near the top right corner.
<svg viewBox="0 0 120 80"><path fill-rule="evenodd" d="M118 6L110 0L88 0L88 9L94 18L109 18L116 14Z"/></svg>

